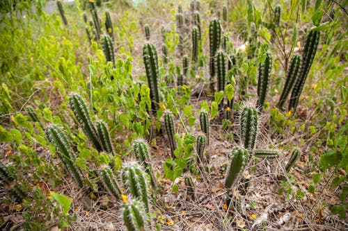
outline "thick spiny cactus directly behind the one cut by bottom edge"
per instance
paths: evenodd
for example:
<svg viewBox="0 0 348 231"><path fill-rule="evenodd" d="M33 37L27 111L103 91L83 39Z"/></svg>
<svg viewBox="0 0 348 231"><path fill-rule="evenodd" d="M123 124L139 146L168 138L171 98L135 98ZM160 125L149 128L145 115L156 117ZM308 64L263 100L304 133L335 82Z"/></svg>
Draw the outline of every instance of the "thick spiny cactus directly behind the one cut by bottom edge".
<svg viewBox="0 0 348 231"><path fill-rule="evenodd" d="M122 182L125 191L133 198L141 200L145 212L149 212L148 186L143 169L136 162L126 163L122 168Z"/></svg>

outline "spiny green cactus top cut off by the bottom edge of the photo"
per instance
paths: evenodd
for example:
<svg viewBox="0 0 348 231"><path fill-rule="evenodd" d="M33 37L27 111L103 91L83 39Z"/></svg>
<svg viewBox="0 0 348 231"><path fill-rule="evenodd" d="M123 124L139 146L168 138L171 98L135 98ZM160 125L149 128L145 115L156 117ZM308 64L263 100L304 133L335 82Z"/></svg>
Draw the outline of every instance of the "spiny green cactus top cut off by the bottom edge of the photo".
<svg viewBox="0 0 348 231"><path fill-rule="evenodd" d="M138 200L123 205L123 221L128 231L148 231L146 214Z"/></svg>

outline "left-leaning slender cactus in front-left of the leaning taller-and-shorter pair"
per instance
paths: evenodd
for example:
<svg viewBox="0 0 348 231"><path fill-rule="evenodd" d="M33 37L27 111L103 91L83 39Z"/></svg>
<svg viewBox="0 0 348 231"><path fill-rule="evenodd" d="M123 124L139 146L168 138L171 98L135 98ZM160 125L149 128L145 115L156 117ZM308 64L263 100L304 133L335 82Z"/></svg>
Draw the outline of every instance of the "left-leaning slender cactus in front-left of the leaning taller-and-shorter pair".
<svg viewBox="0 0 348 231"><path fill-rule="evenodd" d="M52 124L46 128L45 135L47 140L56 147L59 159L61 159L65 169L68 170L72 178L77 182L77 185L79 185L79 187L84 187L84 175L81 169L74 164L75 156L68 137L65 135L62 128L56 124Z"/></svg>

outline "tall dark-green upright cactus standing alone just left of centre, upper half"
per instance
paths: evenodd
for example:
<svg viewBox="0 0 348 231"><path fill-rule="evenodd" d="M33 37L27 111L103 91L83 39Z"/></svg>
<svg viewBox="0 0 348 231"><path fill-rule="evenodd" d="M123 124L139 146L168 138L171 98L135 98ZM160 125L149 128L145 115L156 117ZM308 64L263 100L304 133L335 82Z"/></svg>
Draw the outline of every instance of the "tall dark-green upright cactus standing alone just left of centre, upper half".
<svg viewBox="0 0 348 231"><path fill-rule="evenodd" d="M145 43L143 46L143 60L146 69L146 77L150 88L152 114L155 116L159 110L159 94L157 79L159 79L157 51L153 44Z"/></svg>

